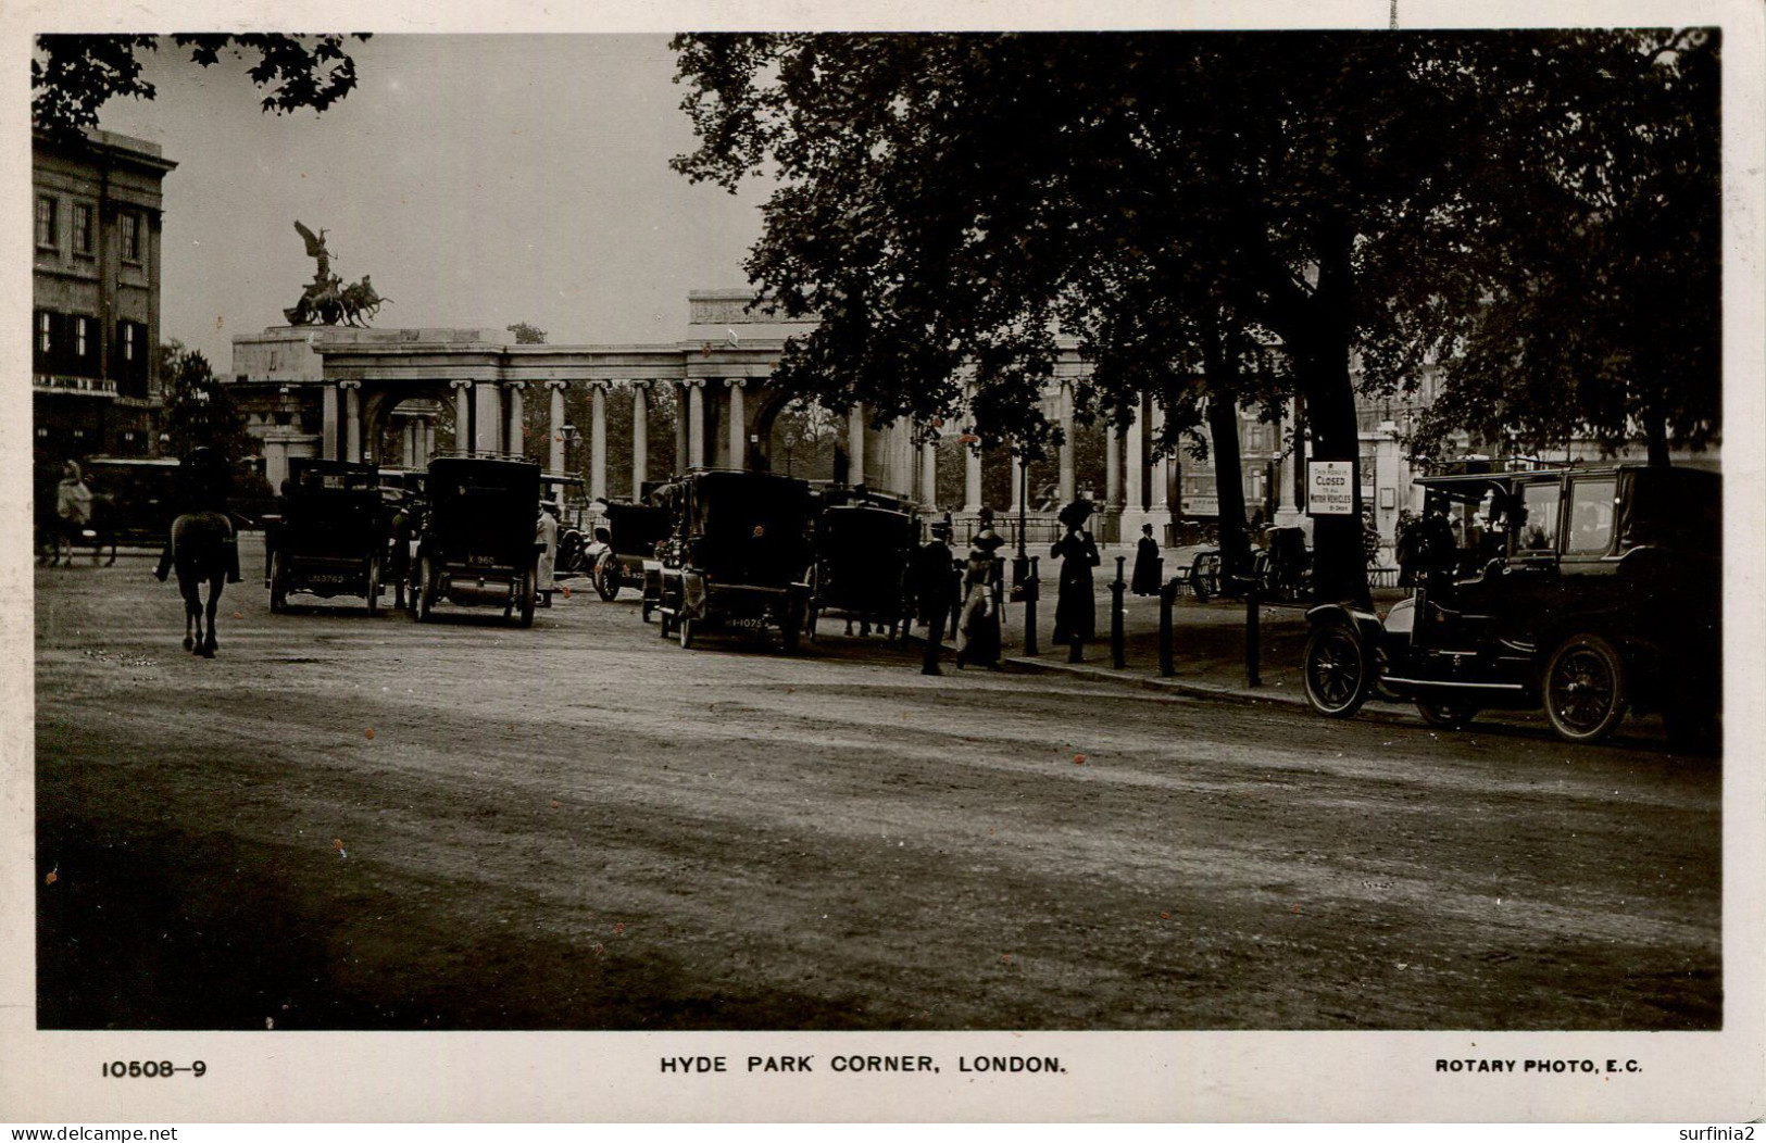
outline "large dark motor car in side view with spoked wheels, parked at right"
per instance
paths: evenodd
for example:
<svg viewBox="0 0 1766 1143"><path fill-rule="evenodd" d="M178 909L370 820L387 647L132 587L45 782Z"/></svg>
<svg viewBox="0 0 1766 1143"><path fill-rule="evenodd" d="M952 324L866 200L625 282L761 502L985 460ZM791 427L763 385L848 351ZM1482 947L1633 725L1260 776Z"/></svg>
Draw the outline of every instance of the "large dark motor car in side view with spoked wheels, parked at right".
<svg viewBox="0 0 1766 1143"><path fill-rule="evenodd" d="M1618 463L1418 484L1415 595L1385 618L1344 604L1307 613L1314 710L1347 717L1379 694L1457 728L1482 708L1543 707L1570 742L1660 712L1676 740L1717 740L1718 473ZM1450 514L1471 507L1483 525L1471 518L1455 539Z"/></svg>

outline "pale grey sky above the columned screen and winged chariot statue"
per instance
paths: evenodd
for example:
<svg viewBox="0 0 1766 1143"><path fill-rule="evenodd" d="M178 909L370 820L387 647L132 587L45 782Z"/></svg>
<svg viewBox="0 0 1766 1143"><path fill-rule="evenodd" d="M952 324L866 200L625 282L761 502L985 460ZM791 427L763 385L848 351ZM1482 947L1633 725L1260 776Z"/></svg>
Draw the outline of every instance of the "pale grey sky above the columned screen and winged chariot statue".
<svg viewBox="0 0 1766 1143"><path fill-rule="evenodd" d="M154 101L99 127L150 140L164 182L161 337L226 369L233 334L283 323L313 277L371 274L378 327L532 322L549 341L685 336L687 291L742 286L765 187L692 185L666 35L374 35L323 115L263 113L247 64L145 57Z"/></svg>

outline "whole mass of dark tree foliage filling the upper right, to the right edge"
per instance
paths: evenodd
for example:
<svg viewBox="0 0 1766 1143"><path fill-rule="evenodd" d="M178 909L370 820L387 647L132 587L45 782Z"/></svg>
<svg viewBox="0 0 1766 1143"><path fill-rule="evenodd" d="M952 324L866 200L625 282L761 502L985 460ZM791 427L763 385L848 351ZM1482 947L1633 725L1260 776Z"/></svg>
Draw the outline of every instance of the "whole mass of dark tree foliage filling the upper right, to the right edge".
<svg viewBox="0 0 1766 1143"><path fill-rule="evenodd" d="M968 389L987 443L1035 447L1065 334L1091 366L1081 417L1121 422L1148 394L1166 445L1203 399L1294 394L1312 454L1355 461L1356 385L1415 385L1432 362L1457 362L1443 415L1489 397L1508 431L1612 440L1653 419L1701 440L1717 362L1688 344L1715 346L1715 300L1702 284L1676 313L1646 299L1715 274L1717 46L1704 30L682 35L699 148L675 166L777 180L747 270L818 325L775 382L876 420L945 415ZM1589 274L1598 291L1579 293ZM1588 323L1540 376L1519 334L1543 332L1551 300L1524 302L1545 283ZM1478 364L1503 346L1508 369ZM1591 360L1602 380L1570 376ZM1321 595L1367 595L1355 507L1317 519Z"/></svg>

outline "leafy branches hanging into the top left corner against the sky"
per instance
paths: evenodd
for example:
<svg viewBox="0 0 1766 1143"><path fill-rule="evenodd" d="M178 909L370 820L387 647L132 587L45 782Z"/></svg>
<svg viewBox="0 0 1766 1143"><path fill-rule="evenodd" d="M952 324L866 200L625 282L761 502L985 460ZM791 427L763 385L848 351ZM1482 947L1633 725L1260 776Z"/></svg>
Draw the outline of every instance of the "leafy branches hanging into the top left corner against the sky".
<svg viewBox="0 0 1766 1143"><path fill-rule="evenodd" d="M191 62L212 67L223 51L254 58L251 81L265 92L265 111L325 111L355 90L348 35L194 34L170 41L189 49ZM367 34L355 34L366 41ZM143 51L159 51L157 35L39 35L30 62L32 124L57 138L78 138L99 122L99 108L117 95L152 99L141 78Z"/></svg>

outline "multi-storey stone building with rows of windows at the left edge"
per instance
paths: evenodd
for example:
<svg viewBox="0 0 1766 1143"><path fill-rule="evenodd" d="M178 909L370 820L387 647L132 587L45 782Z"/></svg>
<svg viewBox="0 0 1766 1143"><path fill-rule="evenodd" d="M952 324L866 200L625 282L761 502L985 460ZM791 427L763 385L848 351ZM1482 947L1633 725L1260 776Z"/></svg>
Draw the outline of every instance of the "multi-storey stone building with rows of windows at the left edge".
<svg viewBox="0 0 1766 1143"><path fill-rule="evenodd" d="M106 131L32 140L32 459L159 449L161 182L177 163Z"/></svg>

